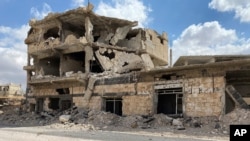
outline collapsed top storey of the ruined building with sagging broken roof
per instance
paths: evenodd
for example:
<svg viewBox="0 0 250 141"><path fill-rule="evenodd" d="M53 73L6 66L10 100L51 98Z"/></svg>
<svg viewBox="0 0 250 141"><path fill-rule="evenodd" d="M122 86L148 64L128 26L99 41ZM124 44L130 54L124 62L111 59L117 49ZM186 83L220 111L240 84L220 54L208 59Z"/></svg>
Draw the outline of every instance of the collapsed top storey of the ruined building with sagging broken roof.
<svg viewBox="0 0 250 141"><path fill-rule="evenodd" d="M147 53L154 66L168 64L168 39L151 29L134 28L137 22L99 16L93 7L64 13L50 13L42 20L31 20L25 43L28 54L37 58L56 53L74 53L92 48L112 48L136 54Z"/></svg>

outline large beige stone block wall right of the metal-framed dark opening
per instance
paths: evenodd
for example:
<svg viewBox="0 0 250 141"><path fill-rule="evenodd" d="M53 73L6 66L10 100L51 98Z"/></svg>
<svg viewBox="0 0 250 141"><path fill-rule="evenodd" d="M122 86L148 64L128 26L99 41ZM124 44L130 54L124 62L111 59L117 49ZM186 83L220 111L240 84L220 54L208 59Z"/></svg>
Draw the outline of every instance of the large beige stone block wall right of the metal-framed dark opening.
<svg viewBox="0 0 250 141"><path fill-rule="evenodd" d="M219 116L223 113L224 77L193 78L184 81L184 113L187 116Z"/></svg>

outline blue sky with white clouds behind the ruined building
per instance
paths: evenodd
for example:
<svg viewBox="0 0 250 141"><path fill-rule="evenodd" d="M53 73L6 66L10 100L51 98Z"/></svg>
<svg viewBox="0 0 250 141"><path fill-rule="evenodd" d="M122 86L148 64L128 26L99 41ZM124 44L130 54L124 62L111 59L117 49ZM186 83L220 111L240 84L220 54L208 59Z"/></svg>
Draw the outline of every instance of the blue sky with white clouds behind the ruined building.
<svg viewBox="0 0 250 141"><path fill-rule="evenodd" d="M250 0L89 0L103 16L138 21L168 34L173 63L179 56L250 54ZM86 6L87 0L1 0L0 84L25 88L30 19Z"/></svg>

